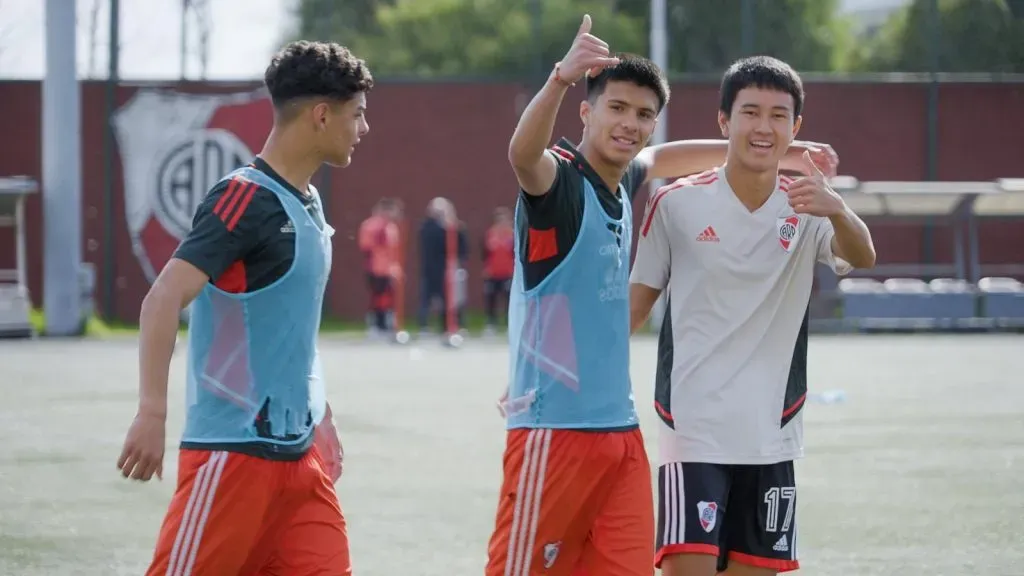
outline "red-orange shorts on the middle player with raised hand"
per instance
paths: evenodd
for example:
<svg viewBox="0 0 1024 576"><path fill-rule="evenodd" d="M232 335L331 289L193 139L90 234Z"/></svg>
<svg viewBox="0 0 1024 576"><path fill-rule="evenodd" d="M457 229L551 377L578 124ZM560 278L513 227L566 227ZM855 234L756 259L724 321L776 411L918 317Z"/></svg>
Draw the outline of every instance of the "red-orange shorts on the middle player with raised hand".
<svg viewBox="0 0 1024 576"><path fill-rule="evenodd" d="M639 429L509 430L486 576L650 576L654 513Z"/></svg>

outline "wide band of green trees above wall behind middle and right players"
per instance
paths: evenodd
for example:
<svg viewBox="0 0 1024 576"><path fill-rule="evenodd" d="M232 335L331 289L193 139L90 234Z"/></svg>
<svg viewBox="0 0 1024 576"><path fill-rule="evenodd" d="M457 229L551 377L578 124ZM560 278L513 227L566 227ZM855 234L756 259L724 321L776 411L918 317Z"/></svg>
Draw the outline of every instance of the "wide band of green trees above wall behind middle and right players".
<svg viewBox="0 0 1024 576"><path fill-rule="evenodd" d="M669 0L670 70L720 73L743 55L744 33L752 52L798 70L842 67L850 34L838 2ZM345 43L378 75L517 78L546 74L587 12L612 50L647 53L649 0L301 0L297 8L299 36Z"/></svg>

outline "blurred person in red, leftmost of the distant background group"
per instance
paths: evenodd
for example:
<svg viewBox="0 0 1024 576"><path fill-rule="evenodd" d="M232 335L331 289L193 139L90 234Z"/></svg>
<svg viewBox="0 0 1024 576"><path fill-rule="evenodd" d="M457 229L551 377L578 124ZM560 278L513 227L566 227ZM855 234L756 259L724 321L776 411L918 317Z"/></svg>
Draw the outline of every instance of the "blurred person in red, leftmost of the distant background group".
<svg viewBox="0 0 1024 576"><path fill-rule="evenodd" d="M370 289L367 328L372 337L392 329L394 266L398 246L398 224L394 216L394 201L382 198L374 206L371 216L359 225L359 251L365 257Z"/></svg>

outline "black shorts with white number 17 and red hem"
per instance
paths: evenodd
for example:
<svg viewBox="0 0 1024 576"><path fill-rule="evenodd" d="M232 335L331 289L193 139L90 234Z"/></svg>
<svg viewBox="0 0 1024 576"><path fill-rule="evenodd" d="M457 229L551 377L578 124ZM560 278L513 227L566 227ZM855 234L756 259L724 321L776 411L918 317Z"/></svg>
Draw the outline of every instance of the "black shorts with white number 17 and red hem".
<svg viewBox="0 0 1024 576"><path fill-rule="evenodd" d="M797 560L797 488L793 461L777 464L674 462L657 472L657 554L718 557L776 572Z"/></svg>

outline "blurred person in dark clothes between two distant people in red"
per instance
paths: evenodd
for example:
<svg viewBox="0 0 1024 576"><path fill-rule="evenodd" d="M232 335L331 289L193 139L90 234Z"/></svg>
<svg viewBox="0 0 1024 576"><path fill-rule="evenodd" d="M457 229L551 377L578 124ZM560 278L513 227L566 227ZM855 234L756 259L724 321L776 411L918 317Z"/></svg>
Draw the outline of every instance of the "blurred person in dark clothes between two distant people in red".
<svg viewBox="0 0 1024 576"><path fill-rule="evenodd" d="M427 217L420 225L420 306L419 328L428 332L431 312L437 311L442 334L458 332L463 322L463 306L456 301L458 275L465 270L469 243L465 227L457 217L455 206L446 198L434 198L427 205ZM455 234L452 246L451 235Z"/></svg>

